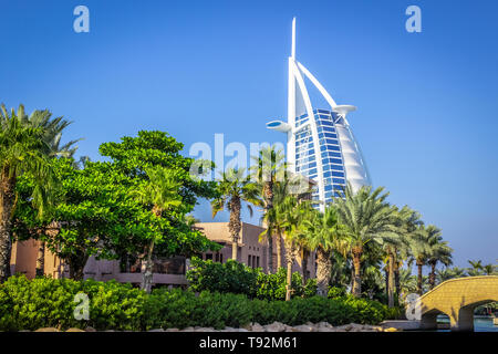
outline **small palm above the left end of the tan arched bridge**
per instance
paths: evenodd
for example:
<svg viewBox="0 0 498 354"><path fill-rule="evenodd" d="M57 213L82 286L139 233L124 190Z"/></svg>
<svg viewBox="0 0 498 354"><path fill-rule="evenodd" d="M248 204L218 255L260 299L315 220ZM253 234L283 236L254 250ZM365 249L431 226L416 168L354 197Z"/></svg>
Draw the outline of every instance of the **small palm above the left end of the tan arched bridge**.
<svg viewBox="0 0 498 354"><path fill-rule="evenodd" d="M440 236L440 229L434 225L429 225L426 229L427 242L429 252L427 256L427 263L430 266L430 273L428 278L429 289L434 289L436 285L436 266L438 262L448 267L453 264L452 252L453 249L448 246L447 241L443 241Z"/></svg>

